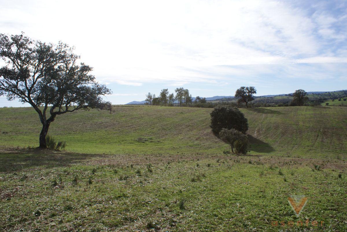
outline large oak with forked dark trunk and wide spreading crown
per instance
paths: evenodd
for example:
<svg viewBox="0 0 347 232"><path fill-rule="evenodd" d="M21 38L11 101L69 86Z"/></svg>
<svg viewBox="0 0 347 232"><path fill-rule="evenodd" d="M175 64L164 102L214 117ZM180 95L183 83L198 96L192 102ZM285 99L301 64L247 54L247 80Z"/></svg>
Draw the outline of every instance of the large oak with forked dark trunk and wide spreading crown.
<svg viewBox="0 0 347 232"><path fill-rule="evenodd" d="M79 56L67 44L43 43L24 34L0 34L0 96L29 103L42 123L40 147L46 148L50 123L57 115L79 109L111 110L102 95L111 94L90 74L92 68L77 63Z"/></svg>

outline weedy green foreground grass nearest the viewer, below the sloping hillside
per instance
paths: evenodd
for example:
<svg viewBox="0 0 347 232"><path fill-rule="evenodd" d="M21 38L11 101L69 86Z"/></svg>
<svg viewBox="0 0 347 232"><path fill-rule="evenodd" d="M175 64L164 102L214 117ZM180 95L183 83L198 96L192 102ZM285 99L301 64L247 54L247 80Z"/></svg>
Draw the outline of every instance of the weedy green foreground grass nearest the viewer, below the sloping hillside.
<svg viewBox="0 0 347 232"><path fill-rule="evenodd" d="M1 231L347 230L343 160L1 153Z"/></svg>

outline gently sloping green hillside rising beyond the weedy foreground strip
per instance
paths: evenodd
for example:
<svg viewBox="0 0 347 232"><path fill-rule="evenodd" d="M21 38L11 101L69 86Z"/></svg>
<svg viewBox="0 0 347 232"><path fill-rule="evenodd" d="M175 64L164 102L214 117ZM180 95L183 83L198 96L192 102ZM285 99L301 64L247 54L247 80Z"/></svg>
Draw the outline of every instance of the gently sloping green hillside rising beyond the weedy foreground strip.
<svg viewBox="0 0 347 232"><path fill-rule="evenodd" d="M229 149L212 133L212 109L115 106L58 116L49 134L67 151L94 154L221 154ZM249 121L251 155L346 156L347 108L241 109ZM0 109L0 146L36 147L41 129L31 108Z"/></svg>

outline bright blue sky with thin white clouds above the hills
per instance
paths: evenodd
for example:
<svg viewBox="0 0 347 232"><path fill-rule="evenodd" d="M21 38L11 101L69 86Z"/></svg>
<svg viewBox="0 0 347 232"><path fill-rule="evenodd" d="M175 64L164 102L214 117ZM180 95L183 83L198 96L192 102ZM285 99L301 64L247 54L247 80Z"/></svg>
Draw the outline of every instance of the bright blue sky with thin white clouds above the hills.
<svg viewBox="0 0 347 232"><path fill-rule="evenodd" d="M113 92L258 96L347 89L347 1L0 0L0 33L75 46ZM1 106L23 106L0 97Z"/></svg>

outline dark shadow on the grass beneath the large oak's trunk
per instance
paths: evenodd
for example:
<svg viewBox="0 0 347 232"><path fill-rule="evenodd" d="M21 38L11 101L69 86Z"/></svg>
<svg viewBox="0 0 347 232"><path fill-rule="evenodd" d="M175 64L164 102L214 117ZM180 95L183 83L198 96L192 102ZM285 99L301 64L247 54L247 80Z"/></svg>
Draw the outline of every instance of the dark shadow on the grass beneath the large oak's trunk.
<svg viewBox="0 0 347 232"><path fill-rule="evenodd" d="M0 151L0 172L70 166L100 156L102 155L59 152L48 149L8 149Z"/></svg>

